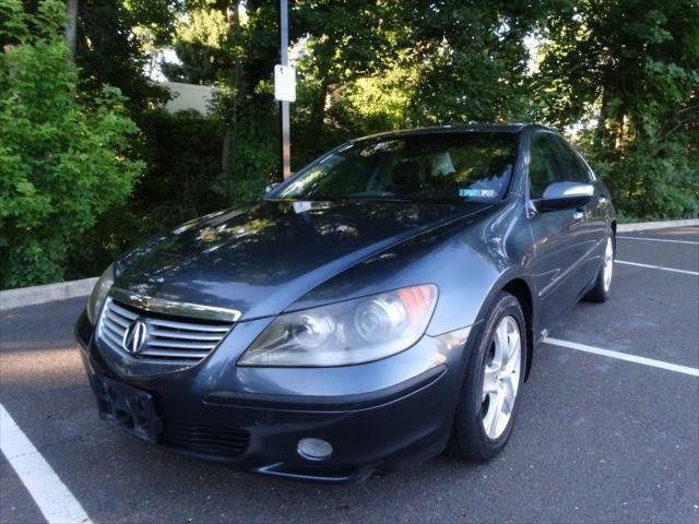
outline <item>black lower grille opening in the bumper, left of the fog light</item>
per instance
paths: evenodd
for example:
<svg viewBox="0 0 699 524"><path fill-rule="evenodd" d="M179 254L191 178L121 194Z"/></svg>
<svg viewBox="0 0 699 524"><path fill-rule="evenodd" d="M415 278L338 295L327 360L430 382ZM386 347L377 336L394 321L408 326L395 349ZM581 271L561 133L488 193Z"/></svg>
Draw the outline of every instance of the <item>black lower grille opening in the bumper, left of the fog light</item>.
<svg viewBox="0 0 699 524"><path fill-rule="evenodd" d="M164 420L159 440L165 444L199 453L237 456L248 446L250 433L244 429L192 426Z"/></svg>

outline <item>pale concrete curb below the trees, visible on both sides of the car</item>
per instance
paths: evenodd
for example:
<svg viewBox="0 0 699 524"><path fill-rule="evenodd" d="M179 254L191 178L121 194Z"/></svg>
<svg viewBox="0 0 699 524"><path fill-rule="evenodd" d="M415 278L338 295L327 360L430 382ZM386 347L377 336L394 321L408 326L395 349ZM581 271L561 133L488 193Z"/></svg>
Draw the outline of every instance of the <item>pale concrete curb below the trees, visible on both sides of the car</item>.
<svg viewBox="0 0 699 524"><path fill-rule="evenodd" d="M643 231L647 229L664 229L667 227L699 226L699 218L687 221L640 222L638 224L619 224L617 233ZM38 303L67 300L75 297L86 297L92 293L97 277L82 281L61 282L44 286L21 287L0 291L0 311L36 306Z"/></svg>

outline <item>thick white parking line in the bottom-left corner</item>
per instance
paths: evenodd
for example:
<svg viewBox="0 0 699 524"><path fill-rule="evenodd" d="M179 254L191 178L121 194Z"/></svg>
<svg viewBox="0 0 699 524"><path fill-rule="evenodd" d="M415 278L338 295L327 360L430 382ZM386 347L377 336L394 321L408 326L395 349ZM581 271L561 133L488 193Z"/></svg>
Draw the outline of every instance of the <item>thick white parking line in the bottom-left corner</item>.
<svg viewBox="0 0 699 524"><path fill-rule="evenodd" d="M49 524L92 523L80 502L58 478L2 404L0 449Z"/></svg>

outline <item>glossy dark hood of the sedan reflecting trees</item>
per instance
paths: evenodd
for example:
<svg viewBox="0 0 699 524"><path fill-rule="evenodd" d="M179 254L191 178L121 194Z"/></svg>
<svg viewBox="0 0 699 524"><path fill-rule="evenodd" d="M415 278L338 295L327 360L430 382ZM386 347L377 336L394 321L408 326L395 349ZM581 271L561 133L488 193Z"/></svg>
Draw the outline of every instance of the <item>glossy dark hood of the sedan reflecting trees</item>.
<svg viewBox="0 0 699 524"><path fill-rule="evenodd" d="M261 201L188 223L118 264L115 285L176 302L275 315L328 278L482 203Z"/></svg>

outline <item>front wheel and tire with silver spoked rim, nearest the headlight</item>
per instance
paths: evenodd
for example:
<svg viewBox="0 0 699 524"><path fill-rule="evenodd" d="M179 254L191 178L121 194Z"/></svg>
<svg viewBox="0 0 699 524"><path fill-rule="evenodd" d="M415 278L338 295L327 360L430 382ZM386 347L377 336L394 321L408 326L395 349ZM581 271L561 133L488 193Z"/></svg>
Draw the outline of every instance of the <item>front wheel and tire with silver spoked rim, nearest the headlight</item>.
<svg viewBox="0 0 699 524"><path fill-rule="evenodd" d="M509 293L497 295L478 329L454 415L450 449L461 458L485 462L502 451L512 432L529 348L522 308ZM513 344L517 337L519 349ZM506 355L509 349L519 350L516 360L509 359L514 355Z"/></svg>

